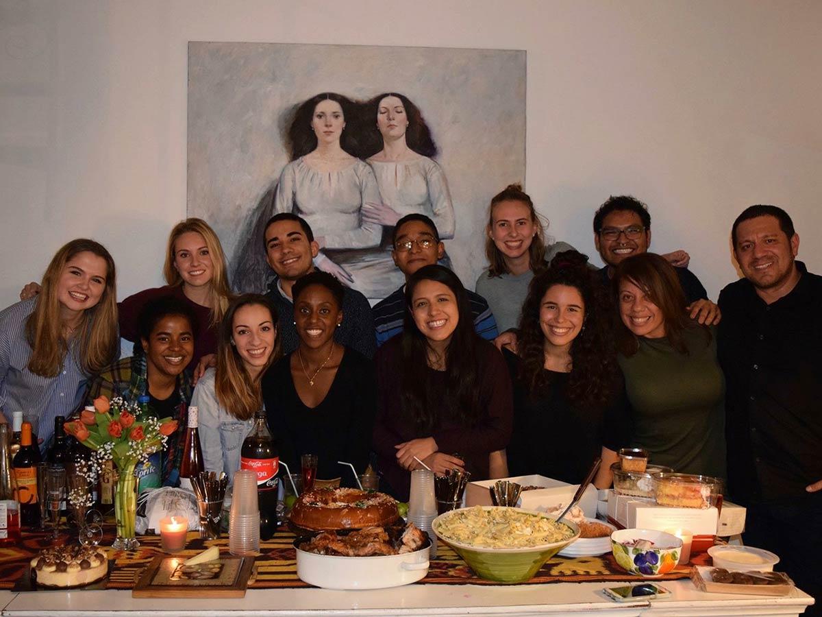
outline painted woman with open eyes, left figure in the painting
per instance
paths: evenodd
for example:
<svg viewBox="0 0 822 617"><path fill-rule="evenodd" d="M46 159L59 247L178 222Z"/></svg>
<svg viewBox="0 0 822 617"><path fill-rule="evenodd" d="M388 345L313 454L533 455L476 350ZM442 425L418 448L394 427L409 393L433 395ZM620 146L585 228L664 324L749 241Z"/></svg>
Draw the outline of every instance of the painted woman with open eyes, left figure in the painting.
<svg viewBox="0 0 822 617"><path fill-rule="evenodd" d="M356 157L357 114L351 100L333 92L302 103L289 129L291 162L279 174L274 213L293 212L314 230L321 253L316 265L369 297L363 256L379 246L380 225L363 217L379 203L374 173Z"/></svg>

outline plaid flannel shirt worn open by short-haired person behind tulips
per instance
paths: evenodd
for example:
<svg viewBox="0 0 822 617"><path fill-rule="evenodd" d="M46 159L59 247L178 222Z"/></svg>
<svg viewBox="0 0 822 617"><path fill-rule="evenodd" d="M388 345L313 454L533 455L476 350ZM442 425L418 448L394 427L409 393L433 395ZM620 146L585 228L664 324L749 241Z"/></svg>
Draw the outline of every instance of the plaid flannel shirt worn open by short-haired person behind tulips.
<svg viewBox="0 0 822 617"><path fill-rule="evenodd" d="M122 397L127 403L136 403L142 396L149 396L149 383L146 377L144 355L132 355L112 364L108 370L100 373L89 387L87 404L99 396L109 399ZM177 378L177 392L180 404L177 410L177 432L169 435L163 452L163 484L177 485L182 462L182 438L185 435L188 417L188 403L192 400L192 380L187 372Z"/></svg>

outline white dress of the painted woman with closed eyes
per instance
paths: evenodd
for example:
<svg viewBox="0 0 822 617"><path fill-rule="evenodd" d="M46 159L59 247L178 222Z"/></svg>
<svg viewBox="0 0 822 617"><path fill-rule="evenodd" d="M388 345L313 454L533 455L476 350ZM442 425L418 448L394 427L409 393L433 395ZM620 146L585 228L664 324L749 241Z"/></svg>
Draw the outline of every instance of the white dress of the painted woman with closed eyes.
<svg viewBox="0 0 822 617"><path fill-rule="evenodd" d="M376 176L382 203L390 206L399 216L424 214L431 218L440 234L440 239L454 237L454 205L448 190L446 174L435 160L427 156L415 155L410 160L381 161L367 160ZM372 272L377 276L385 295L399 288L405 282L403 273L391 259L391 237L393 227L385 227L381 244L381 259L374 262ZM443 262L448 264L447 257Z"/></svg>

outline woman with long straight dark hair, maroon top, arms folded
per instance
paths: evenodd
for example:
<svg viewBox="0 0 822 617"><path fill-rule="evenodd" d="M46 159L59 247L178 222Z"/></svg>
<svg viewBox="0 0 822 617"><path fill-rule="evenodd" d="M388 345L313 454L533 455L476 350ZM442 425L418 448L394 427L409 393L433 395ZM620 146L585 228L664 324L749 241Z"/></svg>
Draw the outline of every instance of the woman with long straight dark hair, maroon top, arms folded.
<svg viewBox="0 0 822 617"><path fill-rule="evenodd" d="M474 332L454 272L420 268L405 285L405 300L402 336L376 355L372 443L389 492L403 501L416 459L438 474L460 467L486 479L489 456L508 443L512 415L505 361Z"/></svg>

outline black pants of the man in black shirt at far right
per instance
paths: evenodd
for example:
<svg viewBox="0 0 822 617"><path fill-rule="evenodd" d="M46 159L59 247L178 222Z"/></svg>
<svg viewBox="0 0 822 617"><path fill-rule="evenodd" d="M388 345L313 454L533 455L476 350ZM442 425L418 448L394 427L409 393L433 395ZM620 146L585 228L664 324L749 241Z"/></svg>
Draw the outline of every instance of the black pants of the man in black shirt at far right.
<svg viewBox="0 0 822 617"><path fill-rule="evenodd" d="M746 545L778 554L774 567L816 600L804 615L822 615L822 492L747 507Z"/></svg>

